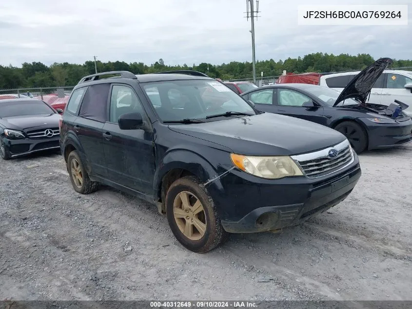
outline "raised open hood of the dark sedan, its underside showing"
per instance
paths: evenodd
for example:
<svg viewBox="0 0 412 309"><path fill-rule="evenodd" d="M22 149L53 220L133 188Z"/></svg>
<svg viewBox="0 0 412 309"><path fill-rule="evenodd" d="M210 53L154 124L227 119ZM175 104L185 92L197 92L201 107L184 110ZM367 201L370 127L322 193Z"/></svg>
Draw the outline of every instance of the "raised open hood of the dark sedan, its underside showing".
<svg viewBox="0 0 412 309"><path fill-rule="evenodd" d="M390 58L381 58L362 70L342 90L339 97L336 99L334 106L346 99L358 99L361 103L366 103L366 99L369 96L373 84L388 65L392 63L393 61Z"/></svg>

